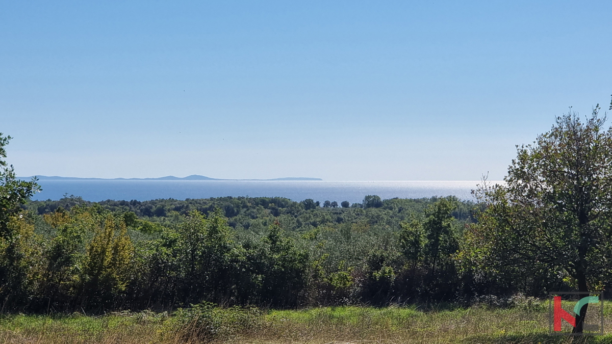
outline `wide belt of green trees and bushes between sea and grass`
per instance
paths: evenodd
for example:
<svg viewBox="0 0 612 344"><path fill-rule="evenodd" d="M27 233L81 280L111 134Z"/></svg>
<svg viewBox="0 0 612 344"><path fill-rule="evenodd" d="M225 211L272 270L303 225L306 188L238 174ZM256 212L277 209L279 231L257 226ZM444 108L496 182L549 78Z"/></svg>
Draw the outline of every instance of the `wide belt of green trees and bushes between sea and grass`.
<svg viewBox="0 0 612 344"><path fill-rule="evenodd" d="M461 252L479 205L454 197L371 195L334 208L286 198L72 196L23 208L0 239L6 311L470 302L564 283L479 270Z"/></svg>

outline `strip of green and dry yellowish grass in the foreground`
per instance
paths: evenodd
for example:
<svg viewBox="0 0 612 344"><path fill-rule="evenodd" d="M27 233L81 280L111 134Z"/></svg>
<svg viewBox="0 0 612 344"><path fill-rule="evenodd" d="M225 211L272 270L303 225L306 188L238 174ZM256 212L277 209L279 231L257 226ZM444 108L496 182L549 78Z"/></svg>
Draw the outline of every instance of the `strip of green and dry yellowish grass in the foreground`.
<svg viewBox="0 0 612 344"><path fill-rule="evenodd" d="M456 308L325 307L305 310L206 308L104 316L9 315L0 319L1 343L572 343L548 333L547 305ZM612 332L612 304L605 329ZM583 337L612 343L612 335ZM573 343L583 342L576 338Z"/></svg>

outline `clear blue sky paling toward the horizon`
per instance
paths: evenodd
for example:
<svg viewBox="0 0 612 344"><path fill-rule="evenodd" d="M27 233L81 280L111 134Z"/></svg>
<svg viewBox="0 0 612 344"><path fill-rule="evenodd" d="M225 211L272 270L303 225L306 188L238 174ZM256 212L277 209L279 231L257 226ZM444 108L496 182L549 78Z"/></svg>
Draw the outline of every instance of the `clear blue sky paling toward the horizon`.
<svg viewBox="0 0 612 344"><path fill-rule="evenodd" d="M20 176L501 179L612 94L610 1L0 1Z"/></svg>

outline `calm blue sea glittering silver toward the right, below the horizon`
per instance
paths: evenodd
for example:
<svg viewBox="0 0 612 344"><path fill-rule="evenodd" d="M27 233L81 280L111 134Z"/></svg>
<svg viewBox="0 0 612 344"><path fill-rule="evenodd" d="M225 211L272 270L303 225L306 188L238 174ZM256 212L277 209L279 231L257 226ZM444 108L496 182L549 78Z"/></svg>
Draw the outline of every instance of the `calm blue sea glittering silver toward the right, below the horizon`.
<svg viewBox="0 0 612 344"><path fill-rule="evenodd" d="M473 200L470 191L479 181L39 181L42 192L34 200L59 200L63 195L88 201L209 198L221 196L280 196L294 201L361 202L365 195L386 198L423 198L454 195Z"/></svg>

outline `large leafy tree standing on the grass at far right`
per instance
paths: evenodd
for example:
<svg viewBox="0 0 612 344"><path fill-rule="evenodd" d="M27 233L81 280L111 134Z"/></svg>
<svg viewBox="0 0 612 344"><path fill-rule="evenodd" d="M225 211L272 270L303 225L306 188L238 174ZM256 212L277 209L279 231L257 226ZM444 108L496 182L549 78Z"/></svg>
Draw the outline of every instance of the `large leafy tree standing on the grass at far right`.
<svg viewBox="0 0 612 344"><path fill-rule="evenodd" d="M485 180L474 192L487 209L466 233L473 259L525 275L553 272L581 292L611 282L612 129L603 130L598 111L584 123L576 113L558 117L550 132L517 146L506 185Z"/></svg>

